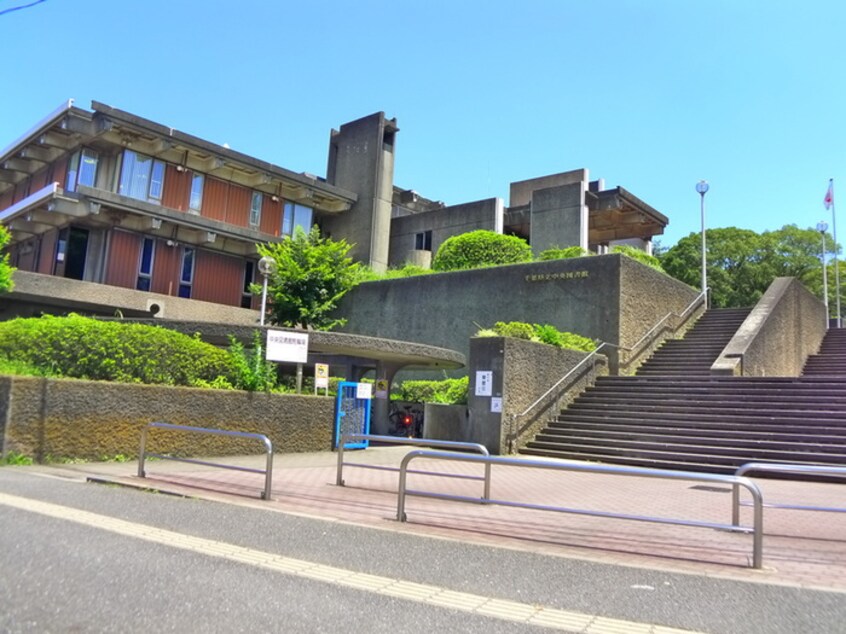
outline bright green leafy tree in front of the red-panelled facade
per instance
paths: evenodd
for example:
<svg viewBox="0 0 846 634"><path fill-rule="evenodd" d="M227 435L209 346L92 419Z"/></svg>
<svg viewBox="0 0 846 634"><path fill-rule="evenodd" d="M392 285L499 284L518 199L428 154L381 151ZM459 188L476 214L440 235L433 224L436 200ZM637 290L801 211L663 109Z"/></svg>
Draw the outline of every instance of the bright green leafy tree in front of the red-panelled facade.
<svg viewBox="0 0 846 634"><path fill-rule="evenodd" d="M259 245L258 252L276 261L268 278L270 321L280 326L331 330L346 323L330 313L360 279L361 265L347 254L352 245L321 238L317 226L309 233L297 228L293 237ZM253 292L260 292L253 285Z"/></svg>

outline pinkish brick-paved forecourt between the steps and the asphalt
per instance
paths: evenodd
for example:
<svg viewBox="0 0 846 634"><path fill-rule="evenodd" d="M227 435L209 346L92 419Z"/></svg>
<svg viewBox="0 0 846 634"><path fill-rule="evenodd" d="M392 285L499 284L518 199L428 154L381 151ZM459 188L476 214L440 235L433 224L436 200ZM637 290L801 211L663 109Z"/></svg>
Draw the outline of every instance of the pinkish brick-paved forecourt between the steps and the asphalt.
<svg viewBox="0 0 846 634"><path fill-rule="evenodd" d="M345 461L398 466L408 447L348 451ZM264 456L209 459L263 469ZM33 467L62 477L155 489L229 504L349 522L384 530L609 563L744 581L846 592L846 513L764 510L764 569L749 568L752 536L721 530L605 519L408 497L408 521L396 521L395 472L347 466L336 486L337 455L276 454L273 495L264 476L173 461ZM417 460L417 470L481 475L481 465ZM839 484L755 479L767 503L846 507ZM410 474L409 489L480 497L473 480ZM695 482L494 466L491 497L571 509L728 524L731 488ZM748 497L748 496L747 496ZM743 507L741 523L751 524Z"/></svg>

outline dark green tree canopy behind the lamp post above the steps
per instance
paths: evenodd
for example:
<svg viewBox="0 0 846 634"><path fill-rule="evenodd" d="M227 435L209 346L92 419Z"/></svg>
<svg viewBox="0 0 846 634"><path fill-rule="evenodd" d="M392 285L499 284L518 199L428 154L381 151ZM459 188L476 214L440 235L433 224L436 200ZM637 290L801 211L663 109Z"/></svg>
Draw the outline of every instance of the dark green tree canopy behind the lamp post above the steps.
<svg viewBox="0 0 846 634"><path fill-rule="evenodd" d="M708 229L705 239L712 306L753 306L777 277L796 277L822 297L822 238L816 229L785 225L758 234L726 227ZM828 234L826 247L829 254L834 253ZM691 233L659 255L667 273L696 288L701 283L701 258L699 233Z"/></svg>

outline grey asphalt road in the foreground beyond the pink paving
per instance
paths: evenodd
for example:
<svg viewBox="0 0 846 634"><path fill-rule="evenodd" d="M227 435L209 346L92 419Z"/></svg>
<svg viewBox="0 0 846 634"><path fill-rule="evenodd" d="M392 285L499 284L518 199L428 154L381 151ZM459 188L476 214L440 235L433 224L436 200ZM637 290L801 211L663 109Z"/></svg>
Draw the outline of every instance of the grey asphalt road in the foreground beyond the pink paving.
<svg viewBox="0 0 846 634"><path fill-rule="evenodd" d="M108 518L131 523L131 534L110 529ZM174 535L149 541L134 534L139 524ZM187 536L250 553L233 561L206 545L186 550ZM541 631L252 565L255 552L632 622L617 631L846 631L843 593L595 564L0 468L0 632ZM612 631L601 626L585 631Z"/></svg>

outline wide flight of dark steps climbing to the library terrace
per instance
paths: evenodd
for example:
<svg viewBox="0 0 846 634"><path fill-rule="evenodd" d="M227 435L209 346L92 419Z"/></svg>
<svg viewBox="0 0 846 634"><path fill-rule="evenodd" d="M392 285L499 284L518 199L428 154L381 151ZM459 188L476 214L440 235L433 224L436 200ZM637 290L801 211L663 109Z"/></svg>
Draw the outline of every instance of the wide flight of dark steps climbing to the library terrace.
<svg viewBox="0 0 846 634"><path fill-rule="evenodd" d="M521 453L716 473L753 461L846 466L846 331L829 331L820 373L710 376L747 313L709 310L635 376L599 378Z"/></svg>

